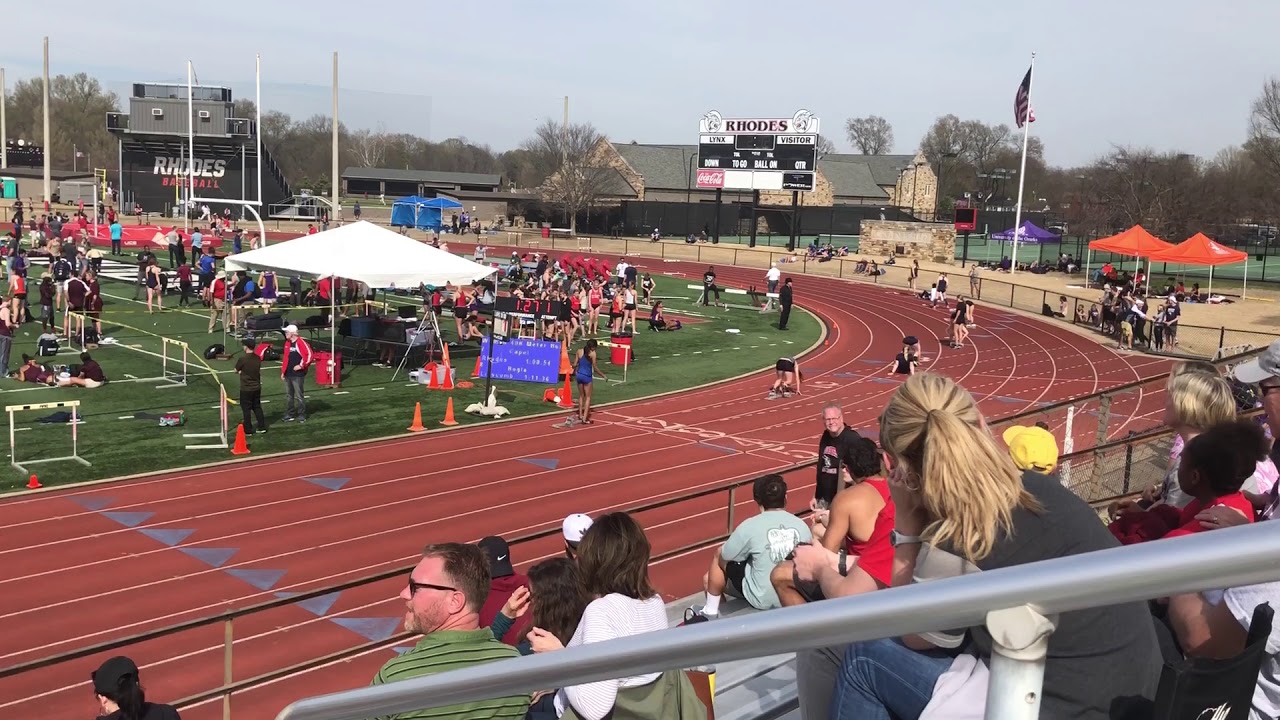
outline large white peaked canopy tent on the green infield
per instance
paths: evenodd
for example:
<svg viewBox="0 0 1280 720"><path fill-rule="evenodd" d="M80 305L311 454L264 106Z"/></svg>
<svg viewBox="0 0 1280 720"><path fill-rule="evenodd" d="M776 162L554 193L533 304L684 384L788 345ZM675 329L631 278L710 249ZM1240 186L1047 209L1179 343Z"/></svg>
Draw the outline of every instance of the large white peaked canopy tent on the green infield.
<svg viewBox="0 0 1280 720"><path fill-rule="evenodd" d="M416 290L421 284L465 286L494 268L451 255L367 220L279 242L225 260L228 272L270 270L307 279L343 278L371 290ZM337 288L329 293L329 343L337 347ZM332 377L337 378L340 369Z"/></svg>

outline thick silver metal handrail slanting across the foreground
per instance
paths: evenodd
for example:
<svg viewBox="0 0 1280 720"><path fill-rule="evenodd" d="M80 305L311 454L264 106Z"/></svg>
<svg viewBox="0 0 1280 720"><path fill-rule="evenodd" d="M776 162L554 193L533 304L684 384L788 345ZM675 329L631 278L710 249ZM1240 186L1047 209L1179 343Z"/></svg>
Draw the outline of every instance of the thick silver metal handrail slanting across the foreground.
<svg viewBox="0 0 1280 720"><path fill-rule="evenodd" d="M276 720L358 720L483 698L698 667L858 641L983 625L988 612L1041 615L1280 580L1280 523L1102 550L913 584L722 623L700 623L384 685L303 698Z"/></svg>

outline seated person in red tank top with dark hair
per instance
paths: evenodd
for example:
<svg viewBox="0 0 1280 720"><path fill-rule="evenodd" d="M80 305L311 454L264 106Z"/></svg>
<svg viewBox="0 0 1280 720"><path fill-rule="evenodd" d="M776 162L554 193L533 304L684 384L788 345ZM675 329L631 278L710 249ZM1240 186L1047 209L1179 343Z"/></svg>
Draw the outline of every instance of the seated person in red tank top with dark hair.
<svg viewBox="0 0 1280 720"><path fill-rule="evenodd" d="M858 594L893 583L893 498L883 478L876 441L854 441L849 474L854 484L836 496L831 510L814 512L813 534L822 544L796 548L795 562L773 570L773 587L783 606L826 597ZM829 565L835 573L817 570ZM859 571L854 573L854 568ZM865 578L874 580L867 584Z"/></svg>

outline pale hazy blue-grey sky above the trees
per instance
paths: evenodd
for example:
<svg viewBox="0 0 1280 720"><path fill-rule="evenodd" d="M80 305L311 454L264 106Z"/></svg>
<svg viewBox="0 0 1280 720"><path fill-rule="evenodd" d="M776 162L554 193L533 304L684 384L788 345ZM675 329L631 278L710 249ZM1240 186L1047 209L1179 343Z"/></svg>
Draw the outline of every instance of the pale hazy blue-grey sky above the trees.
<svg viewBox="0 0 1280 720"><path fill-rule="evenodd" d="M13 5L6 27L49 28L51 74L90 73L122 101L132 82L186 82L187 60L201 83L253 97L261 54L264 109L328 115L337 51L348 127L494 150L558 122L568 96L570 122L620 142L694 143L709 110L806 109L844 151L845 119L876 114L893 126L893 151L913 152L947 113L1012 126L1034 53L1032 135L1051 164L1087 164L1114 146L1212 158L1245 140L1251 102L1280 76L1275 0L484 0L408 14L220 0L215 17L159 0L111 12L61 0L60 17L92 18L88 35L49 22L40 4ZM40 74L38 33L0 46L10 86Z"/></svg>

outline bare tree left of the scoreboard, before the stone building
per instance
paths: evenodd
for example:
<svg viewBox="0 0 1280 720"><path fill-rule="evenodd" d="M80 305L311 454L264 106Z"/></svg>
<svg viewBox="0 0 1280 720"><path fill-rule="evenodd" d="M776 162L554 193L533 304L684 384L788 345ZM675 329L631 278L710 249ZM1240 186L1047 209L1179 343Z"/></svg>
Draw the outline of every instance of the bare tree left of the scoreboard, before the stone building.
<svg viewBox="0 0 1280 720"><path fill-rule="evenodd" d="M599 163L599 147L604 140L591 123L566 127L547 119L526 142L526 147L541 161L557 160L556 172L543 183L543 197L564 209L570 232L577 231L577 214L591 206L613 172Z"/></svg>

